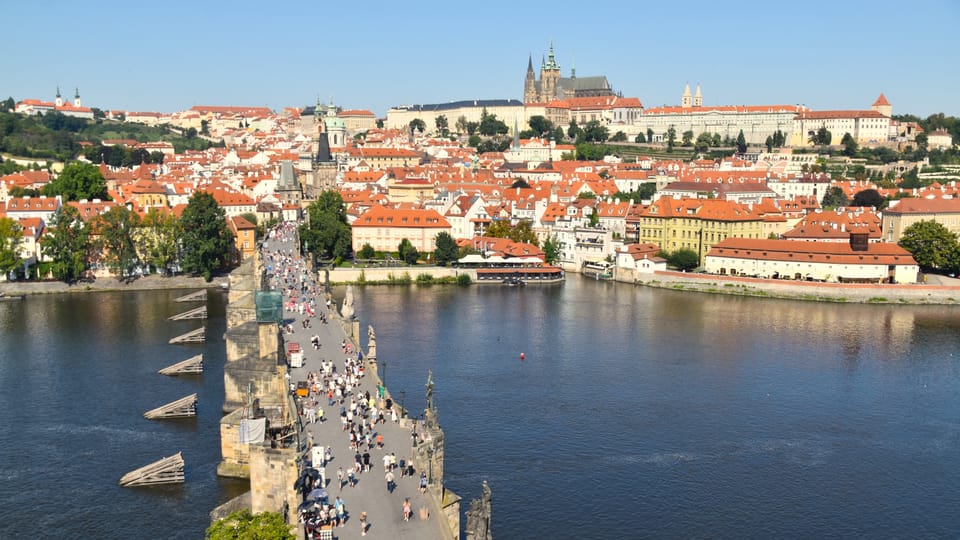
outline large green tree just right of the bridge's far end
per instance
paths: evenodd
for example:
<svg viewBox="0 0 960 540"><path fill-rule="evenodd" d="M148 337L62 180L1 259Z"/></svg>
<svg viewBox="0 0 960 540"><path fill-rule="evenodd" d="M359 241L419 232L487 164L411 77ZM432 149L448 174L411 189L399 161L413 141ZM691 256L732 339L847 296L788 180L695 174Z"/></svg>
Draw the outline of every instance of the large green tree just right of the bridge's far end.
<svg viewBox="0 0 960 540"><path fill-rule="evenodd" d="M307 223L300 226L300 240L322 259L345 259L353 249L343 197L327 190L307 207Z"/></svg>

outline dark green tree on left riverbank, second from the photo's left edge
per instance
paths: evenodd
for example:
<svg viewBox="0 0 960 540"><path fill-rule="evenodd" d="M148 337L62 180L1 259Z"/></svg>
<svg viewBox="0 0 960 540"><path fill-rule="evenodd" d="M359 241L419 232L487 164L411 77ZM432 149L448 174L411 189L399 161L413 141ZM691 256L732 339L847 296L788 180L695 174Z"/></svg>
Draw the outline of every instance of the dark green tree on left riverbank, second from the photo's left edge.
<svg viewBox="0 0 960 540"><path fill-rule="evenodd" d="M53 261L53 277L73 283L83 277L90 261L90 227L76 207L63 205L50 220L51 232L43 237L43 254Z"/></svg>

